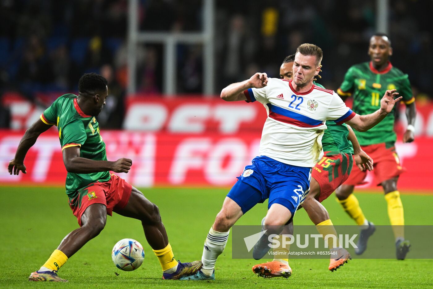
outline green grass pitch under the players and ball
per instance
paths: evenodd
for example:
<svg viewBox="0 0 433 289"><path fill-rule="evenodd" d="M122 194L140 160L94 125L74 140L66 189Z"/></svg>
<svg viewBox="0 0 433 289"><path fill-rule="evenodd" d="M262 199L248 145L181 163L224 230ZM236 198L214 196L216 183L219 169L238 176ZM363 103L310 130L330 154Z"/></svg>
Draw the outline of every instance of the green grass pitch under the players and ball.
<svg viewBox="0 0 433 289"><path fill-rule="evenodd" d="M331 273L327 259L289 260L293 275L288 279L262 279L251 267L255 260L232 259L231 238L216 263L213 282L162 280L159 263L146 243L139 221L113 214L107 226L60 269L59 275L69 283L29 282L29 274L39 269L62 238L78 227L64 189L59 187L0 187L2 220L0 254L2 270L0 287L64 288L145 288L145 287L286 287L286 288L409 288L433 287L432 259L356 259ZM201 258L204 239L220 210L226 189L155 188L142 192L160 208L174 255L181 261ZM382 194L357 197L365 216L379 225L389 224L386 202ZM433 225L433 194L403 194L405 221L408 225ZM323 203L336 225L353 224L331 196ZM238 224L257 224L266 213L266 204L259 204L243 216ZM295 224L310 225L301 210ZM143 265L132 272L117 269L111 261L114 244L133 238L144 246ZM390 244L394 246L394 244ZM118 273L117 276L115 273ZM289 287L290 286L290 287Z"/></svg>

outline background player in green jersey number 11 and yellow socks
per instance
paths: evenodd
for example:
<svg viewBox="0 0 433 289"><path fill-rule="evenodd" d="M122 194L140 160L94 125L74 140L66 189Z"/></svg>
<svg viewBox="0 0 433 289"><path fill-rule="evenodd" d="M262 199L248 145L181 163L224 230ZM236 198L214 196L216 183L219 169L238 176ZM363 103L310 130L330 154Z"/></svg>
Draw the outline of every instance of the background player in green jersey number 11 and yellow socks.
<svg viewBox="0 0 433 289"><path fill-rule="evenodd" d="M402 101L406 104L407 130L403 142L414 141L415 99L407 74L392 66L389 57L392 55L391 41L383 33L377 33L370 39L368 47L370 62L356 64L349 68L338 94L345 99L353 96L353 111L366 114L375 111L380 95L387 89L397 89ZM397 259L404 259L410 249L410 243L404 240L404 215L397 180L404 171L395 151L396 135L394 132L394 114L387 115L378 125L367 132L355 132L362 149L374 160L375 183L381 185L388 203L388 216L393 225L396 240ZM365 218L359 202L352 194L355 185L363 184L366 173L354 168L346 183L336 191L339 203L358 225L364 226L361 231L361 243L355 252L362 254L367 246L368 237L375 227Z"/></svg>

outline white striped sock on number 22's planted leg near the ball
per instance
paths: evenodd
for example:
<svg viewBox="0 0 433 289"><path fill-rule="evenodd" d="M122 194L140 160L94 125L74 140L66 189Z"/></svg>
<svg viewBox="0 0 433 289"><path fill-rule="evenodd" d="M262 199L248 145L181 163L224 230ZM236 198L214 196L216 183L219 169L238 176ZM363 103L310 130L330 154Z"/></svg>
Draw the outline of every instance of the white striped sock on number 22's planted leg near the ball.
<svg viewBox="0 0 433 289"><path fill-rule="evenodd" d="M203 255L201 256L201 262L203 268L201 271L206 275L210 276L215 268L216 258L223 253L224 248L229 238L230 230L227 232L217 232L211 227L207 238L204 241Z"/></svg>

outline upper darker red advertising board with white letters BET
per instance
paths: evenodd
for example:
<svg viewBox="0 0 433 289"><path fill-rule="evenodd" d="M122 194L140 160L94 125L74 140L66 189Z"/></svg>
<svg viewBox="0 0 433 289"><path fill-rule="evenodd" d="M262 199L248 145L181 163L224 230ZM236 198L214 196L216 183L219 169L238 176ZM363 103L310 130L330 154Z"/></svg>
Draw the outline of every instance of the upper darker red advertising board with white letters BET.
<svg viewBox="0 0 433 289"><path fill-rule="evenodd" d="M13 130L28 128L55 97L43 95L38 99L46 105L36 106L18 94L3 95L1 102L10 109ZM400 107L400 115L401 120L396 125L397 132L406 127L404 105ZM266 111L259 102L225 102L217 95L211 99L138 95L126 99L123 128L173 134L200 135L215 132L230 135L243 131L262 131L265 118ZM417 105L415 135L433 138L433 103Z"/></svg>

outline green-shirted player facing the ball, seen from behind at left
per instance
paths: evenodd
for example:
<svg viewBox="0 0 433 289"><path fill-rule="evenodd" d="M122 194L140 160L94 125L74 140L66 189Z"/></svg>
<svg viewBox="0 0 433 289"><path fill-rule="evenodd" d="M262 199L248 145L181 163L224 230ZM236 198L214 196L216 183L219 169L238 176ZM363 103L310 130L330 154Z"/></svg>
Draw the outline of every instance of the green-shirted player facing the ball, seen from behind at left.
<svg viewBox="0 0 433 289"><path fill-rule="evenodd" d="M53 125L58 135L68 175L66 194L69 205L80 227L61 241L47 262L30 281L67 282L58 269L85 243L96 237L105 227L107 214L142 221L146 240L161 263L163 279L179 279L195 273L201 261L176 262L171 250L158 207L125 180L110 174L127 173L132 166L128 158L107 161L105 143L96 120L108 96L107 80L96 73L84 74L78 83L79 94L65 94L42 113L21 139L15 158L10 161L10 174L26 173L24 158L42 132Z"/></svg>

